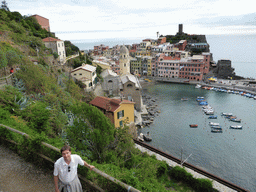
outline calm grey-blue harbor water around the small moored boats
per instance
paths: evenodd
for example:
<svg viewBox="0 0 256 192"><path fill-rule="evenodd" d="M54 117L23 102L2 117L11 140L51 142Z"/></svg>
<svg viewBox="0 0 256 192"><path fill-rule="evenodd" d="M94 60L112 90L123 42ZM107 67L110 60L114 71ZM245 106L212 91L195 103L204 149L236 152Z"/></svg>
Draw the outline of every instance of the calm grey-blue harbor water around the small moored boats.
<svg viewBox="0 0 256 192"><path fill-rule="evenodd" d="M161 83L143 90L157 100L161 113L139 131L152 136L150 145L250 191L256 191L256 100L241 95L195 89L193 85ZM208 119L197 96L205 97L217 119ZM181 98L188 98L182 101ZM231 122L221 116L233 113ZM209 122L218 122L222 133L212 133ZM198 128L190 128L198 124ZM242 130L230 129L242 125Z"/></svg>

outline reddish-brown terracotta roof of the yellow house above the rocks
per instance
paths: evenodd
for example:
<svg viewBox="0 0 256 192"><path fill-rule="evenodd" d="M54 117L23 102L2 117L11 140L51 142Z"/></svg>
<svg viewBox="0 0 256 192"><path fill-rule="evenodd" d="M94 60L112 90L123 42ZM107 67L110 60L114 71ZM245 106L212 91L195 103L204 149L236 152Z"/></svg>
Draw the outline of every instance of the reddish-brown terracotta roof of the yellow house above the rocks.
<svg viewBox="0 0 256 192"><path fill-rule="evenodd" d="M96 97L93 99L90 104L101 109L105 109L111 112L115 112L122 103L134 103L128 100L121 100L121 99L110 99L107 97Z"/></svg>

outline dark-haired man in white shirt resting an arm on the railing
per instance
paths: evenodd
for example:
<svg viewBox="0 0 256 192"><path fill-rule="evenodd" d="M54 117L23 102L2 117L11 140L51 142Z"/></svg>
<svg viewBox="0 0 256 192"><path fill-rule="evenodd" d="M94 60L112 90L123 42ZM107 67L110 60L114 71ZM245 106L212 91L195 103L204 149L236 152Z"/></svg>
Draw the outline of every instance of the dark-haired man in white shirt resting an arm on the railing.
<svg viewBox="0 0 256 192"><path fill-rule="evenodd" d="M82 192L82 186L77 176L78 164L90 168L79 155L71 155L71 148L65 145L61 148L62 157L54 164L54 185L55 192Z"/></svg>

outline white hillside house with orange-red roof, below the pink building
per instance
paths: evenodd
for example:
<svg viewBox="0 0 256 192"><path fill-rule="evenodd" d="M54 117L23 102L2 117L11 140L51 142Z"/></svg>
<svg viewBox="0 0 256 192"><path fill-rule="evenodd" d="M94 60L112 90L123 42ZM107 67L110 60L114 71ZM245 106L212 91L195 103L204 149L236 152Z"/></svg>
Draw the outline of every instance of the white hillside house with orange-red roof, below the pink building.
<svg viewBox="0 0 256 192"><path fill-rule="evenodd" d="M64 41L53 37L46 37L42 41L44 42L45 47L51 49L53 53L56 52L59 55L58 60L60 63L65 62L66 50Z"/></svg>

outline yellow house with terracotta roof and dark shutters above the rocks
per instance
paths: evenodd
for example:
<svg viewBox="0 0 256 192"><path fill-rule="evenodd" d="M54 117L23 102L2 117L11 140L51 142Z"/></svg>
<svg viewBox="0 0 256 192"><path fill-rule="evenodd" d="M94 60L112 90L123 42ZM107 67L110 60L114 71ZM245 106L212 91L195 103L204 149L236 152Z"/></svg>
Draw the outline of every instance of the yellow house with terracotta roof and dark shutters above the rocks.
<svg viewBox="0 0 256 192"><path fill-rule="evenodd" d="M96 97L90 104L100 109L116 128L134 122L134 102L132 101Z"/></svg>

